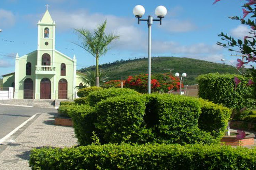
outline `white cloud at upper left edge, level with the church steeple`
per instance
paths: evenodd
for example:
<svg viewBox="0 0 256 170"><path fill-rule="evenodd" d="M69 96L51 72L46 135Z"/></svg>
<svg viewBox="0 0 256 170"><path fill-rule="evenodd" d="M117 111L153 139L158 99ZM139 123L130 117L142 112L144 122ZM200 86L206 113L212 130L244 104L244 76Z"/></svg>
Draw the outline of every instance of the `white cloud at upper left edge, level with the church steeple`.
<svg viewBox="0 0 256 170"><path fill-rule="evenodd" d="M11 27L15 24L15 16L11 11L0 9L0 28Z"/></svg>

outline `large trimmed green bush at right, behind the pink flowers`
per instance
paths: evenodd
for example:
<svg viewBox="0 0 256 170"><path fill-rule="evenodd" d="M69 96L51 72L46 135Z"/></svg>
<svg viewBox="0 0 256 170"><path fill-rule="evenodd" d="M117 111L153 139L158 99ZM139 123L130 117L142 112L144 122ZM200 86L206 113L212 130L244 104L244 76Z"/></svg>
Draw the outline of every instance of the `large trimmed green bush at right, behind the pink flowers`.
<svg viewBox="0 0 256 170"><path fill-rule="evenodd" d="M234 77L241 82L235 88ZM253 88L247 86L248 78L236 74L209 73L197 77L199 83L199 97L216 104L223 104L238 110L244 107L255 107L256 101L246 98L252 94Z"/></svg>

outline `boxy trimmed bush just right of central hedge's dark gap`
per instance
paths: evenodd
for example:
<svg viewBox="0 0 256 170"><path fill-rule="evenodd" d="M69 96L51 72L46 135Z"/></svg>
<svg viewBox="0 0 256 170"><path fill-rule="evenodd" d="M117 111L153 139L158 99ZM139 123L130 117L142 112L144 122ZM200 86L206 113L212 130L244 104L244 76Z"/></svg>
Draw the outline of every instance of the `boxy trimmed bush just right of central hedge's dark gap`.
<svg viewBox="0 0 256 170"><path fill-rule="evenodd" d="M209 133L198 128L201 112L197 98L147 95L145 113L146 127L153 133L154 142L183 145L216 142Z"/></svg>

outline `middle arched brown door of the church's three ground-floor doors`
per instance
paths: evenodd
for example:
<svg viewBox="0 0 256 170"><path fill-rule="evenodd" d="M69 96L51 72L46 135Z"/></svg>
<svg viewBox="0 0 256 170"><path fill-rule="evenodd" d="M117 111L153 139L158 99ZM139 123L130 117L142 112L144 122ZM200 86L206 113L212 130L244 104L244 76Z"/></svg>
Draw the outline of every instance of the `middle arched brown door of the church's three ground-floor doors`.
<svg viewBox="0 0 256 170"><path fill-rule="evenodd" d="M51 99L51 81L48 78L40 82L40 99Z"/></svg>

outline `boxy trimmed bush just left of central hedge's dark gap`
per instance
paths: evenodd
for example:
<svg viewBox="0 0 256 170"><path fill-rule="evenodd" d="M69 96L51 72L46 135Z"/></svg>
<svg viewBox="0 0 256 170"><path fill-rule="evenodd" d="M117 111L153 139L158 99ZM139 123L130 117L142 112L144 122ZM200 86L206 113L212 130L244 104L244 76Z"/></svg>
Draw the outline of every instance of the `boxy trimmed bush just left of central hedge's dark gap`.
<svg viewBox="0 0 256 170"><path fill-rule="evenodd" d="M143 129L145 99L143 96L126 95L108 98L97 103L96 128L101 130L108 143L137 142Z"/></svg>

